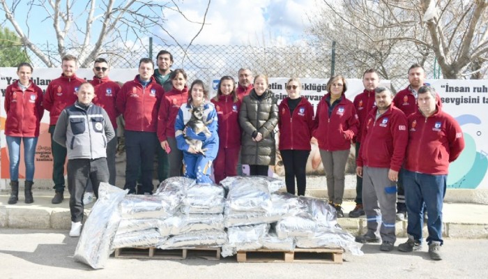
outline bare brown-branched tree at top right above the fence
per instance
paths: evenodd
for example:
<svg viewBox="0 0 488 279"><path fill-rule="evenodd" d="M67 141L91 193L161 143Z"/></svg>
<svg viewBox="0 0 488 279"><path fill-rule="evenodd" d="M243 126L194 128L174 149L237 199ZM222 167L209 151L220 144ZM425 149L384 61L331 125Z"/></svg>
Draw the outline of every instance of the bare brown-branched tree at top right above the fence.
<svg viewBox="0 0 488 279"><path fill-rule="evenodd" d="M487 67L488 1L323 0L323 3L325 8L310 29L312 36L323 38L324 34L332 33L331 37L348 48L353 61L377 65L383 77L389 78L386 62L400 46L404 46L410 60L420 63L434 53L445 78L476 77Z"/></svg>

